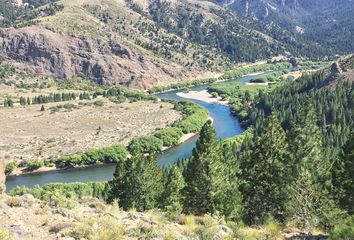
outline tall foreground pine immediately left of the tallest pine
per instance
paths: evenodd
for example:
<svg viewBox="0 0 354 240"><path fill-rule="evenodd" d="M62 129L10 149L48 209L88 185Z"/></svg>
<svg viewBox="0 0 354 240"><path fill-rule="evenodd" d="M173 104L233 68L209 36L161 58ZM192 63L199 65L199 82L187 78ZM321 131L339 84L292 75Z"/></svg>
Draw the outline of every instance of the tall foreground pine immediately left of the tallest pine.
<svg viewBox="0 0 354 240"><path fill-rule="evenodd" d="M249 156L241 161L246 222L260 223L269 215L283 219L288 162L286 135L273 112L256 133Z"/></svg>

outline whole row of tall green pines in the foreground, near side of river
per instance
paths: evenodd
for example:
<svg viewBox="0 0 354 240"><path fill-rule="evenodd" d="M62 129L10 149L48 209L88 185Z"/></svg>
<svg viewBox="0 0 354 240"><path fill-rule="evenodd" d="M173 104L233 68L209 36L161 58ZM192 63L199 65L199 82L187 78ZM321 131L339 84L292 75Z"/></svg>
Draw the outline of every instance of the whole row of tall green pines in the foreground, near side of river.
<svg viewBox="0 0 354 240"><path fill-rule="evenodd" d="M353 213L354 135L334 164L309 102L297 119L285 132L273 112L239 145L218 141L208 121L192 157L168 169L158 167L153 151L132 151L117 164L108 201L125 210L221 214L249 225L272 217L330 229Z"/></svg>

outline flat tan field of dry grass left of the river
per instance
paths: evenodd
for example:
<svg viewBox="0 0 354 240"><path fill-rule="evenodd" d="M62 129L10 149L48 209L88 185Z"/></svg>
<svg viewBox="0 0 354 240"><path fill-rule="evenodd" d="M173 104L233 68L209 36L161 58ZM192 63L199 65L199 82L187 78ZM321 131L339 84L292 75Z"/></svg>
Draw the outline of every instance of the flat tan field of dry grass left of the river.
<svg viewBox="0 0 354 240"><path fill-rule="evenodd" d="M0 108L0 151L7 160L50 159L91 148L127 144L133 137L153 132L179 119L168 103L136 102L103 107L79 101ZM84 101L84 102L94 102ZM81 101L83 102L83 101ZM75 109L51 113L50 107L75 104ZM162 107L160 107L162 106Z"/></svg>

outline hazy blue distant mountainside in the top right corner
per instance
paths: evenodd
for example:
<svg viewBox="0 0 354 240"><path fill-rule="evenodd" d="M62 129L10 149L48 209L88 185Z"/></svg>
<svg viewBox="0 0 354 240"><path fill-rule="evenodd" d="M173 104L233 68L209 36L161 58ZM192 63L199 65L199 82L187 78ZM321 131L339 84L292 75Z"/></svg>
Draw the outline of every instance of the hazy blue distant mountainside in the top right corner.
<svg viewBox="0 0 354 240"><path fill-rule="evenodd" d="M354 50L353 1L241 0L233 1L228 7L262 23L275 23L294 32L297 38L317 43L334 53Z"/></svg>

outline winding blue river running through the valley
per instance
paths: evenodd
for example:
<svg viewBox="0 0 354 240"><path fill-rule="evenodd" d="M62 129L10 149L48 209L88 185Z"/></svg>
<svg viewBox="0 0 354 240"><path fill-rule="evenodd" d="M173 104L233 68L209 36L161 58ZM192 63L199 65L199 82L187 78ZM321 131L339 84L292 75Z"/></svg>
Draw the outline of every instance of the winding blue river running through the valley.
<svg viewBox="0 0 354 240"><path fill-rule="evenodd" d="M261 75L261 74L259 74ZM242 83L249 82L253 76L245 76L240 79L232 80ZM200 91L207 89L208 85L202 85L191 88L193 91ZM186 100L176 95L177 92L182 90L176 90L166 93L158 94L157 96L162 99L169 100ZM207 108L210 116L213 118L213 126L216 130L217 137L224 139L238 135L244 131L240 126L238 120L231 115L230 109L227 106L206 103L198 100L194 101L203 107ZM159 166L168 166L178 159L184 159L191 156L192 150L195 147L195 143L198 136L192 137L184 143L172 147L158 156ZM62 171L45 172L38 174L29 174L21 176L11 176L7 178L6 189L7 191L15 188L16 186L33 187L34 185L44 185L46 183L53 182L93 182L93 181L107 181L113 178L113 172L115 170L115 164L103 165L99 167L87 167L87 168L75 168Z"/></svg>

